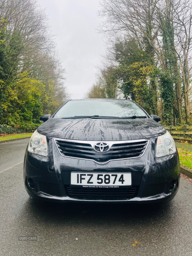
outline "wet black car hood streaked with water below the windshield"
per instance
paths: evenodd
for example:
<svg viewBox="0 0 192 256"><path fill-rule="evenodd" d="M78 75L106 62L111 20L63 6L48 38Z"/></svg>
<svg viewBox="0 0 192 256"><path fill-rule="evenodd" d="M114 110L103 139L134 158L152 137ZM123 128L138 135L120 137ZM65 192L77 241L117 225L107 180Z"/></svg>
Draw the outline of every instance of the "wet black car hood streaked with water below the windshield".
<svg viewBox="0 0 192 256"><path fill-rule="evenodd" d="M51 118L37 132L70 140L138 140L162 135L166 132L153 119L56 119Z"/></svg>

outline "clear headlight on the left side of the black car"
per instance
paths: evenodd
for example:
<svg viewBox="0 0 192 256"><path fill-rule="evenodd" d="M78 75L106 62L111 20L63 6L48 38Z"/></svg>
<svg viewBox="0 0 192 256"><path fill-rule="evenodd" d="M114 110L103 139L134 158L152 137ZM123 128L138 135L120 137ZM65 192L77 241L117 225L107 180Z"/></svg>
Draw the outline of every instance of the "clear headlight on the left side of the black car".
<svg viewBox="0 0 192 256"><path fill-rule="evenodd" d="M29 140L28 151L39 156L48 156L46 136L35 131Z"/></svg>

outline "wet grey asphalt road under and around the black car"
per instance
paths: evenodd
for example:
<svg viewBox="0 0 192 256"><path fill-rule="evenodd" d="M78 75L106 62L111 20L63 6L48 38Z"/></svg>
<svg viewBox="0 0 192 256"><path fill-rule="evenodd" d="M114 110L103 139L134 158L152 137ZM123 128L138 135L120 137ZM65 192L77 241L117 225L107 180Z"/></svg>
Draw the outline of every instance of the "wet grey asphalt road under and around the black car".
<svg viewBox="0 0 192 256"><path fill-rule="evenodd" d="M192 183L181 178L166 204L58 204L29 198L23 158L29 139L0 144L0 255L192 255ZM18 236L44 236L19 241ZM140 244L133 247L135 240Z"/></svg>

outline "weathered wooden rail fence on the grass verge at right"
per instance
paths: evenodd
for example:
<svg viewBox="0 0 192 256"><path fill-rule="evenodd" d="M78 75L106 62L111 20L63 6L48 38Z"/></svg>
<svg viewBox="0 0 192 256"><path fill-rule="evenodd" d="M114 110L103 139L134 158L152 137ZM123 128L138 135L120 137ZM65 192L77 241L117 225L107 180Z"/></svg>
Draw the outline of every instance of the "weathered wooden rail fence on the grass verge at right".
<svg viewBox="0 0 192 256"><path fill-rule="evenodd" d="M168 130L168 132L171 133L173 139L176 139L176 140L191 140L192 141L192 126L189 126L189 125L165 126L165 129ZM175 134L176 134L176 136L175 136ZM177 136L177 134L179 136Z"/></svg>

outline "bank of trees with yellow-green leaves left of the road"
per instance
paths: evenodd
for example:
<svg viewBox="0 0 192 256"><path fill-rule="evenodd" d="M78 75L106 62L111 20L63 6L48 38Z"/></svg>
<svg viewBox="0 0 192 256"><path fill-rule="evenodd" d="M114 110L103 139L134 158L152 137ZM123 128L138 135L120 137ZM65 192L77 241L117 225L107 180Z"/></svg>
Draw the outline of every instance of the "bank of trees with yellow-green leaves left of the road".
<svg viewBox="0 0 192 256"><path fill-rule="evenodd" d="M68 99L47 16L37 0L2 0L0 17L0 123L37 122Z"/></svg>

